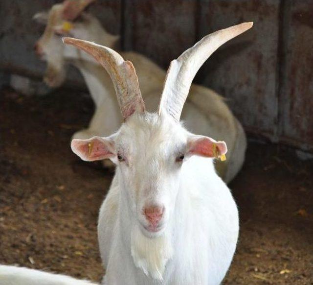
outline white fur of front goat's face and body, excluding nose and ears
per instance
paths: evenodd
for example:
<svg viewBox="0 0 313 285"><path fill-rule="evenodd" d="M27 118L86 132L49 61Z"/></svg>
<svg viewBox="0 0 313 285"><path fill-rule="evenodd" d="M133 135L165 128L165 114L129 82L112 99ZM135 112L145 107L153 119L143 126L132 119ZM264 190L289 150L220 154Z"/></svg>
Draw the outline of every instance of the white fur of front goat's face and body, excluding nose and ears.
<svg viewBox="0 0 313 285"><path fill-rule="evenodd" d="M218 285L238 238L238 211L213 160L174 162L190 133L156 114L131 117L116 135L118 163L100 209L98 238L108 285ZM116 163L116 161L115 161ZM142 207L165 205L165 228L143 228ZM165 265L165 267L164 267Z"/></svg>

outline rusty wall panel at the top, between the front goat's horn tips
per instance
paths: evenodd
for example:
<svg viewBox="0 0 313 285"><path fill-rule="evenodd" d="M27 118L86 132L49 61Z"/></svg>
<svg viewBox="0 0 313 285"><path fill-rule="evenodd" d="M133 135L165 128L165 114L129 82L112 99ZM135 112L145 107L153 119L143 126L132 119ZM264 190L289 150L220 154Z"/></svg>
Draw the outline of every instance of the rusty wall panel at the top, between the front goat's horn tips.
<svg viewBox="0 0 313 285"><path fill-rule="evenodd" d="M124 48L145 54L161 67L195 43L195 0L128 0Z"/></svg>

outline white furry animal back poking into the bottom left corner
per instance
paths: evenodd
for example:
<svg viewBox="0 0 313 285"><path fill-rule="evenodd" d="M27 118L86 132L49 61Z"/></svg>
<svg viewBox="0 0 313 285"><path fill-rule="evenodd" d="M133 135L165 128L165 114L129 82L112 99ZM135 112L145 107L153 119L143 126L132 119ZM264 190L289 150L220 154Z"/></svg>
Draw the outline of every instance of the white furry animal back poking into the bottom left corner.
<svg viewBox="0 0 313 285"><path fill-rule="evenodd" d="M0 265L0 285L96 285L66 275L46 273L39 270Z"/></svg>

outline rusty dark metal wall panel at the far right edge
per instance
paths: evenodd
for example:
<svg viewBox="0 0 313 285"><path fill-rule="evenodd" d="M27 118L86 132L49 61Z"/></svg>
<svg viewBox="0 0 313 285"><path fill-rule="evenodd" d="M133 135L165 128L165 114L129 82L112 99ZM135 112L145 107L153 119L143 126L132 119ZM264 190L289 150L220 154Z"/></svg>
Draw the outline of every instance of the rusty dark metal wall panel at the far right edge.
<svg viewBox="0 0 313 285"><path fill-rule="evenodd" d="M313 151L313 1L286 2L280 88L281 141Z"/></svg>

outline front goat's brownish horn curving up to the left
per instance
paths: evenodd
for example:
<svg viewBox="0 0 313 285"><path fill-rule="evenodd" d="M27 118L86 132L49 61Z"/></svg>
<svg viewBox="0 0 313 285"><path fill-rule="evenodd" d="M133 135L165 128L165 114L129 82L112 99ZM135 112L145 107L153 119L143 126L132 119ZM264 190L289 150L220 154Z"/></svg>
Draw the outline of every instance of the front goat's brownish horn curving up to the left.
<svg viewBox="0 0 313 285"><path fill-rule="evenodd" d="M117 101L124 120L135 111L145 111L145 104L139 89L138 77L130 61L124 61L124 59L111 48L88 41L63 38L63 42L67 45L72 45L84 50L106 69L112 79Z"/></svg>

